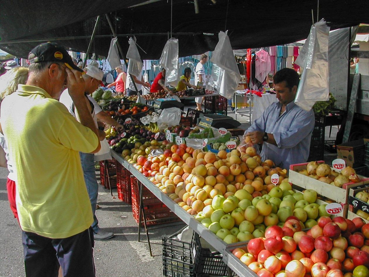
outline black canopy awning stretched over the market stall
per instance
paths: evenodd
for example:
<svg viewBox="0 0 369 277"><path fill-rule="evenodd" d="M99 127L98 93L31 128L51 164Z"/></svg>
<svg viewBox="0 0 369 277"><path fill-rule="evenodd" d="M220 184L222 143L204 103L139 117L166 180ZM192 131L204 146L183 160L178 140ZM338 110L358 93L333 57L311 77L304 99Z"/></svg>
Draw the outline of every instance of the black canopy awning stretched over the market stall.
<svg viewBox="0 0 369 277"><path fill-rule="evenodd" d="M73 51L86 52L96 17L92 52L107 56L111 31L108 14L123 51L135 34L142 59L158 59L170 36L171 0L11 0L1 1L0 49L17 57L41 42L55 41ZM228 10L228 16L227 15ZM234 49L287 44L307 37L317 18L317 1L312 0L199 0L199 14L193 1L173 0L172 32L179 39L179 55L213 50L218 32L228 30ZM369 1L320 0L319 18L331 28L369 23Z"/></svg>

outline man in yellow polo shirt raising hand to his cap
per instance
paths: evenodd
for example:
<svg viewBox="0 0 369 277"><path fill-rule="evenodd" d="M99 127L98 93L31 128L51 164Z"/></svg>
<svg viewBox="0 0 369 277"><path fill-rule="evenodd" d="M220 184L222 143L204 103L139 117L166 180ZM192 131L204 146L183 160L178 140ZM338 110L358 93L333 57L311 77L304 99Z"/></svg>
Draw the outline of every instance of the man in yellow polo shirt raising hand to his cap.
<svg viewBox="0 0 369 277"><path fill-rule="evenodd" d="M92 209L79 151L99 151L82 69L63 47L44 43L29 54L26 85L1 103L4 134L17 174L17 211L27 277L93 277ZM60 103L65 87L81 117Z"/></svg>

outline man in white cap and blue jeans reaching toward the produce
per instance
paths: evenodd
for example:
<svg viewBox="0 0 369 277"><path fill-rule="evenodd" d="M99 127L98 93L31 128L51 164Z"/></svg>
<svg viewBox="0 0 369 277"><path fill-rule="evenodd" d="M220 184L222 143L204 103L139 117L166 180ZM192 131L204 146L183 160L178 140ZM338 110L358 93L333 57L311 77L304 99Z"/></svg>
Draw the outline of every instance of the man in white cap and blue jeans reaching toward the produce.
<svg viewBox="0 0 369 277"><path fill-rule="evenodd" d="M105 113L90 95L97 88L99 88L99 85L104 75L103 71L92 65L87 66L84 69L84 71L86 72L86 74L82 76L85 81L86 102L87 106L90 107L90 112L92 114L96 127L97 120L100 120L104 123L115 126L115 128L117 129L122 128L123 126L119 124L116 120L112 119L107 113ZM63 103L67 107L69 113L72 114L79 121L79 115L77 113L77 110L75 109L72 98L70 98L67 89L63 91L59 101ZM102 130L99 130L99 139L100 141L105 139L105 133ZM80 158L83 169L83 177L85 178L87 192L89 193L90 196L90 202L94 216L94 222L92 223L91 226L94 232L94 239L96 240L110 239L111 237L114 236L114 234L112 232L105 232L101 230L99 228L99 221L97 220L95 215L99 185L97 184L97 179L95 175L94 154L80 152Z"/></svg>

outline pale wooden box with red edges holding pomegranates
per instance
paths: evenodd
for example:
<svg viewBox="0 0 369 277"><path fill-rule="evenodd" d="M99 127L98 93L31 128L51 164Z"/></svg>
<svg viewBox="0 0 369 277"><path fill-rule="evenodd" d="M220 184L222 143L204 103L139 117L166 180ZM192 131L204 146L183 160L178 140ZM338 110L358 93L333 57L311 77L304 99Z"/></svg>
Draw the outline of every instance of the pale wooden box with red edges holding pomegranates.
<svg viewBox="0 0 369 277"><path fill-rule="evenodd" d="M324 163L324 161L318 161L318 163L321 164L321 163ZM290 182L290 184L297 185L304 189L314 189L317 192L317 194L320 194L324 197L332 199L338 203L343 203L343 204L347 203L348 192L350 188L369 184L369 178L365 178L359 175L360 179L362 179L361 182L346 183L342 185L342 188L335 187L333 185L326 184L324 182L310 178L306 175L300 174L299 171L306 169L307 164L308 163L290 165L290 171L289 171L289 176L288 176L288 181ZM334 168L331 168L331 169L334 170Z"/></svg>

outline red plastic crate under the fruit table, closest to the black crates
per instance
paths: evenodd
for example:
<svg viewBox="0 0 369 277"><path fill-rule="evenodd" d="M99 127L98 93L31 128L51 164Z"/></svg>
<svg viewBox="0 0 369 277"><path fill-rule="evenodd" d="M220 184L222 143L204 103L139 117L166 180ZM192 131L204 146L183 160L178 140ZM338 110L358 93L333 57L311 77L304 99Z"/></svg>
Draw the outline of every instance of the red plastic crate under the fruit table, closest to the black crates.
<svg viewBox="0 0 369 277"><path fill-rule="evenodd" d="M143 222L144 218L141 214L139 219L139 181L136 177L131 177L131 190L132 190L132 215L137 223ZM152 192L150 192L145 186L142 186L142 201L143 208L145 210L146 226L154 226L160 224L168 224L172 222L178 222L180 219L170 211ZM152 221L155 220L155 221Z"/></svg>

